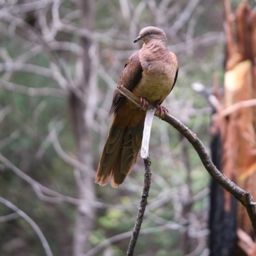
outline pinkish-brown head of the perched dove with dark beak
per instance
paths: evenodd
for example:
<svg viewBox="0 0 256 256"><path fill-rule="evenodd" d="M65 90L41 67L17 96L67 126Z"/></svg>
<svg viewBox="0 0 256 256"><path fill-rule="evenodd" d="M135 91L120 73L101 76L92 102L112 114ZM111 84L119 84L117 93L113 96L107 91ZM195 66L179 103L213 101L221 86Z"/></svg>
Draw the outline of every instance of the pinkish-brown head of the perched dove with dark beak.
<svg viewBox="0 0 256 256"><path fill-rule="evenodd" d="M134 40L134 43L142 40L144 44L148 44L152 40L159 40L166 45L166 35L162 29L156 27L143 28L140 35Z"/></svg>

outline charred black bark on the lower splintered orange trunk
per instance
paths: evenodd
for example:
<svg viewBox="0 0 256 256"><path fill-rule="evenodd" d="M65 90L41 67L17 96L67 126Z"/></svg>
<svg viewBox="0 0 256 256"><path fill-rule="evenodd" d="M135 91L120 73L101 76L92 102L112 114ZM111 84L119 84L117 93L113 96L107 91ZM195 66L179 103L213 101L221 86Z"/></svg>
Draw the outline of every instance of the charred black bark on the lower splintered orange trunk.
<svg viewBox="0 0 256 256"><path fill-rule="evenodd" d="M215 133L216 132L216 133ZM222 145L220 131L214 131L211 141L212 162L221 170ZM230 211L226 212L223 205L225 190L214 180L211 180L210 211L209 211L209 249L210 256L234 255L236 250L236 211L237 200L232 196ZM222 232L221 232L222 230ZM223 231L225 230L225 232ZM218 236L216 236L218 234Z"/></svg>

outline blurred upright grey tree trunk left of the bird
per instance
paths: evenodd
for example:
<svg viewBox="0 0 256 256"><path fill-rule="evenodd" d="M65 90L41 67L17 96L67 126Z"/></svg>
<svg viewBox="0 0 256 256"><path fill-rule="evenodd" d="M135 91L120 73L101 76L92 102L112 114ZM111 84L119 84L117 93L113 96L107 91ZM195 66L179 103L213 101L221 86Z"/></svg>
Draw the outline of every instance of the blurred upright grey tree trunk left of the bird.
<svg viewBox="0 0 256 256"><path fill-rule="evenodd" d="M83 11L82 26L89 31L93 29L93 8L91 0L79 1L79 8ZM81 92L85 93L90 86L90 60L89 50L92 42L88 38L81 39L81 46L84 49L83 54L83 76L76 84ZM75 93L70 93L70 110L72 116L72 124L76 137L77 159L92 168L92 136L90 136L90 127L86 122L86 106L77 98ZM81 174L81 183L79 186L78 196L86 201L95 200L95 184L94 177L89 173L79 171ZM74 256L81 255L90 250L89 236L93 229L95 220L95 209L86 203L82 203L77 208L76 229L74 234Z"/></svg>

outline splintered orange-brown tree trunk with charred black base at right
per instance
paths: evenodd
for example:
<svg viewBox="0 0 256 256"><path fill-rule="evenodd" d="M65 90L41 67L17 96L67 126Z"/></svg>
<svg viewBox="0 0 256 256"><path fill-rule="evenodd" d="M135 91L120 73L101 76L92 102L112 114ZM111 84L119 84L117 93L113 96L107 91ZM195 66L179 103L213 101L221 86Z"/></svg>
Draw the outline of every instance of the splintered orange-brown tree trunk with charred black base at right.
<svg viewBox="0 0 256 256"><path fill-rule="evenodd" d="M212 122L220 136L221 151L218 161L221 172L228 179L250 191L255 198L256 189L256 109L255 106L235 108L242 102L252 102L256 95L256 13L247 1L241 1L236 13L231 12L230 1L224 0L226 36L226 61L224 76L224 97ZM231 111L227 111L231 109ZM216 133L216 132L215 132ZM216 134L213 134L216 136ZM216 152L213 152L213 155ZM249 200L250 201L250 200ZM252 236L250 212L235 202L227 191L212 182L210 212L211 256L243 256L246 246L241 244L244 236L237 240L236 230L240 228ZM233 234L230 236L230 234ZM255 246L256 247L256 246ZM234 251L234 248L236 250ZM250 254L251 255L251 254Z"/></svg>

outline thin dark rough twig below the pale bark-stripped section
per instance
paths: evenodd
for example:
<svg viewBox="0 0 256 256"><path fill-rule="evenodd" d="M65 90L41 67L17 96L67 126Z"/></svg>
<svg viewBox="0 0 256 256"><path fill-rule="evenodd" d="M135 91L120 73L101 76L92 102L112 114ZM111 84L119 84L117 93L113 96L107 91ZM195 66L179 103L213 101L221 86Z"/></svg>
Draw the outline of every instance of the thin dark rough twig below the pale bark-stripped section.
<svg viewBox="0 0 256 256"><path fill-rule="evenodd" d="M143 221L144 212L147 206L147 198L148 192L150 189L150 180L151 180L151 172L150 172L150 157L148 156L146 159L143 159L145 165L145 177L144 177L144 185L141 193L141 200L140 200L140 208L138 211L138 215L136 218L136 223L134 226L134 230L132 232L131 241L129 243L129 247L127 250L127 256L132 256L134 252L134 248L136 246L136 242L138 236L140 234L140 228Z"/></svg>

